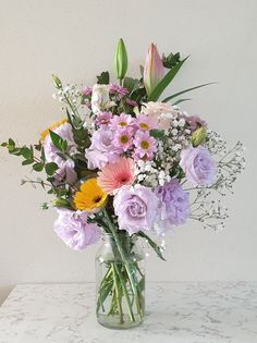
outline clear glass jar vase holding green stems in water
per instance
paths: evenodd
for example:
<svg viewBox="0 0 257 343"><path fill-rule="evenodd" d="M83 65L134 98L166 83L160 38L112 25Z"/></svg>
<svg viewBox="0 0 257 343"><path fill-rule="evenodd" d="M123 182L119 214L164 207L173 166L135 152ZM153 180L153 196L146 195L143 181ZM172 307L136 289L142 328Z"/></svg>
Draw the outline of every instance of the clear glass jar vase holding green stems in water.
<svg viewBox="0 0 257 343"><path fill-rule="evenodd" d="M130 329L145 316L145 254L137 237L103 234L96 255L96 315L100 324Z"/></svg>

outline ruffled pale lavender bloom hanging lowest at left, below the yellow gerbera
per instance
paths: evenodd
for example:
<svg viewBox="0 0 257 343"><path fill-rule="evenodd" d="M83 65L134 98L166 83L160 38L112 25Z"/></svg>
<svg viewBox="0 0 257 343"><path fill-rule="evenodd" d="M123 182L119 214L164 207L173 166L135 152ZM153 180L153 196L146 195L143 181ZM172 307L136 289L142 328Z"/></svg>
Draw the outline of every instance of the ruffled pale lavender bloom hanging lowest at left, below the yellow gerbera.
<svg viewBox="0 0 257 343"><path fill-rule="evenodd" d="M72 249L84 250L88 245L97 243L100 229L88 224L85 211L58 209L59 217L53 223L57 235Z"/></svg>

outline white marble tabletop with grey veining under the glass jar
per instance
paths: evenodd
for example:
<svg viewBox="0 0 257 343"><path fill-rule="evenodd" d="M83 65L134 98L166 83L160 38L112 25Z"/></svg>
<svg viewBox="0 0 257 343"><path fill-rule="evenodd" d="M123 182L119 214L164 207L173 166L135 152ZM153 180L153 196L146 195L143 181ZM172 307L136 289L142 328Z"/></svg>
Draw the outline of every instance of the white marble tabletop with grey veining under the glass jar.
<svg viewBox="0 0 257 343"><path fill-rule="evenodd" d="M257 283L147 284L145 322L105 329L95 285L20 284L0 307L0 343L257 343Z"/></svg>

